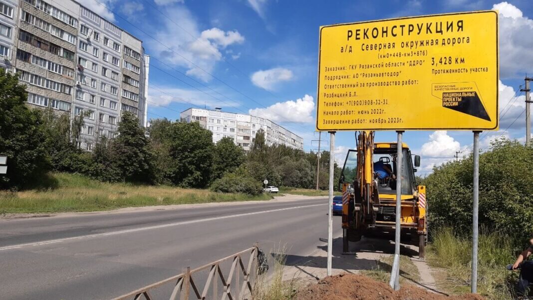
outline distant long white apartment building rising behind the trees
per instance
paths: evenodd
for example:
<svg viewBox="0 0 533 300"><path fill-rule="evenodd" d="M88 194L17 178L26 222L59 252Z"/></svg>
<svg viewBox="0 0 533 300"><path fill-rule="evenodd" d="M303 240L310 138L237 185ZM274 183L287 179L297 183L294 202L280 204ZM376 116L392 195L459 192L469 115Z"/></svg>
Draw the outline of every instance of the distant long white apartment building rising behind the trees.
<svg viewBox="0 0 533 300"><path fill-rule="evenodd" d="M208 110L189 108L180 114L181 119L198 122L200 126L213 133L213 143L229 136L244 150L250 150L255 134L259 129L265 132L265 141L268 145L287 145L303 150L303 138L288 131L284 127L268 119L241 115L240 113L225 112L220 109Z"/></svg>

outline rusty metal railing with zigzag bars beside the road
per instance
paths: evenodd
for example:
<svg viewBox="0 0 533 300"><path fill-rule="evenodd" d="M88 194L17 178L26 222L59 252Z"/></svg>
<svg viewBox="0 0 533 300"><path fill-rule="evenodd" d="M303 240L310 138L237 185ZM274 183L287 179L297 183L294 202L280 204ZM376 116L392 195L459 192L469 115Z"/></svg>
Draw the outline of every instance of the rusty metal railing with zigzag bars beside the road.
<svg viewBox="0 0 533 300"><path fill-rule="evenodd" d="M243 258L248 259L243 260ZM134 290L112 300L156 300L167 298L169 300L250 299L256 275L262 273L264 268L264 260L264 254L256 244L251 248L196 269L191 270L190 267L187 267L181 274ZM230 262L230 271L226 277L221 265L229 264ZM266 268L268 269L268 266ZM208 271L207 277L205 276L206 271ZM242 279L240 278L241 275ZM219 283L221 284L221 290L219 290ZM153 296L154 293L157 293L158 296ZM168 296L168 294L170 295Z"/></svg>

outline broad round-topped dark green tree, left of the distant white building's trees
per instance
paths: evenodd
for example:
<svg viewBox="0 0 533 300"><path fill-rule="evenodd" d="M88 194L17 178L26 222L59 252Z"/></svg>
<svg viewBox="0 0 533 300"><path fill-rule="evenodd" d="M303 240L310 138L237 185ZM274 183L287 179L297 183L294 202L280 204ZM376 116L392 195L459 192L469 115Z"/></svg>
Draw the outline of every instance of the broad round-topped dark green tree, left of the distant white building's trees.
<svg viewBox="0 0 533 300"><path fill-rule="evenodd" d="M211 179L213 137L197 122L174 122L169 128L169 180L183 187L204 188Z"/></svg>

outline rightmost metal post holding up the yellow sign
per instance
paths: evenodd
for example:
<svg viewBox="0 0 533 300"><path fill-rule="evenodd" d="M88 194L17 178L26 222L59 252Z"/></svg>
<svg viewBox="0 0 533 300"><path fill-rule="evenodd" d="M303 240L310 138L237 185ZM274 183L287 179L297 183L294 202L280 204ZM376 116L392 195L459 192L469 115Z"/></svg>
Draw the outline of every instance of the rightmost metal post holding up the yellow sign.
<svg viewBox="0 0 533 300"><path fill-rule="evenodd" d="M472 205L472 293L478 290L479 133L474 131L474 191Z"/></svg>

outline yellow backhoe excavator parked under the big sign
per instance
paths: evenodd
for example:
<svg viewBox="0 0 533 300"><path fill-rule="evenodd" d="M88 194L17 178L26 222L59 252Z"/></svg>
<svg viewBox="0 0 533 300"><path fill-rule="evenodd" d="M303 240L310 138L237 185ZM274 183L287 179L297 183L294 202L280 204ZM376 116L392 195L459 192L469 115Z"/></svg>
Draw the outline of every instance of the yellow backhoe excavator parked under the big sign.
<svg viewBox="0 0 533 300"><path fill-rule="evenodd" d="M349 150L342 168L339 185L342 188L343 252L349 252L349 242L377 231L392 231L396 220L396 193L401 189L401 233L418 238L419 257L424 258L427 242L426 188L417 185L415 167L420 157L411 157L407 144L402 144L401 161L397 160L397 143L375 143L374 131L356 132L357 149ZM401 174L398 164L401 163ZM379 176L374 166L388 170L389 176ZM401 176L401 187L396 179Z"/></svg>

